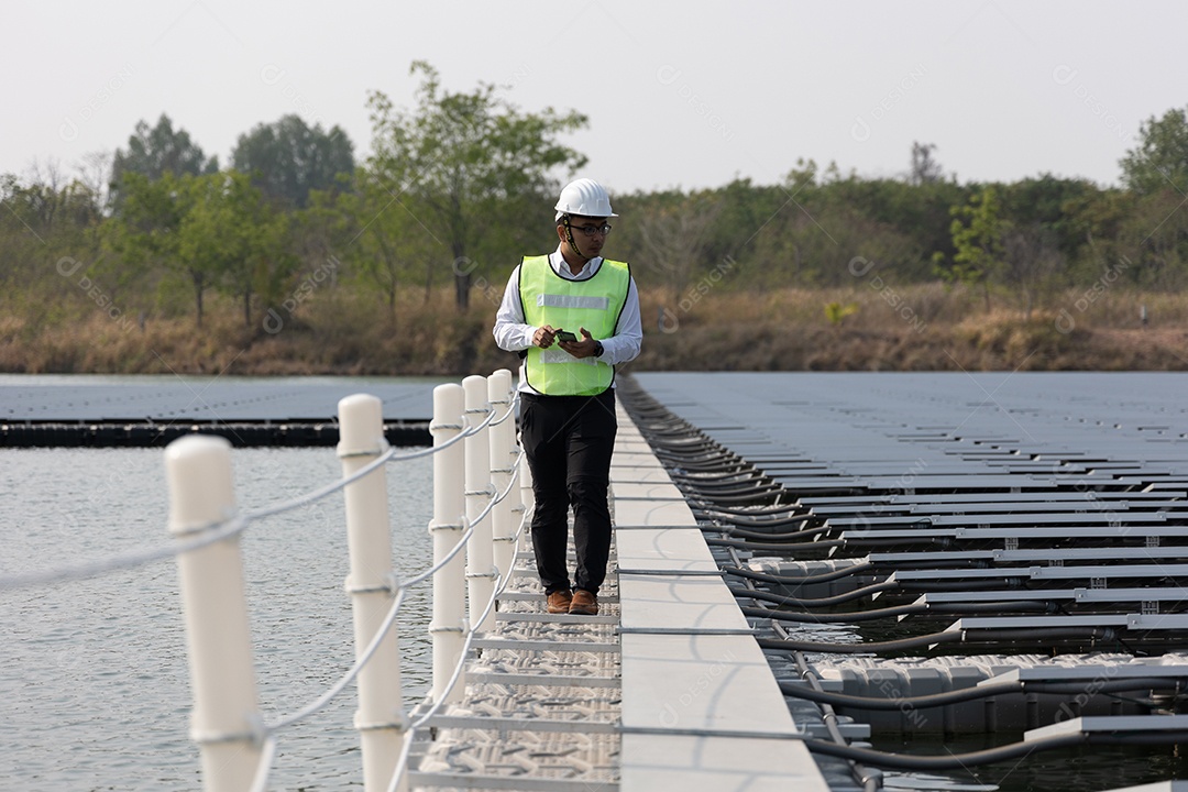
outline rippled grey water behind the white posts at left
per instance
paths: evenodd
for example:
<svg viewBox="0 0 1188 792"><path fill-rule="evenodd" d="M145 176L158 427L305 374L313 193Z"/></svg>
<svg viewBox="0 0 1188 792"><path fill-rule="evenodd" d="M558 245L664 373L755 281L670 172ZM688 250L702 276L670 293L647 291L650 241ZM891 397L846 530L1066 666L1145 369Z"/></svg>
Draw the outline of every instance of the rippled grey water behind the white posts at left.
<svg viewBox="0 0 1188 792"><path fill-rule="evenodd" d="M253 509L341 476L333 449L238 449ZM397 570L431 563L429 458L388 465ZM159 449L0 450L0 576L171 541ZM252 524L241 541L265 721L354 661L342 495ZM428 590L400 619L406 707L429 688ZM198 752L173 560L0 591L0 788L195 790ZM282 733L271 790L361 786L355 689Z"/></svg>

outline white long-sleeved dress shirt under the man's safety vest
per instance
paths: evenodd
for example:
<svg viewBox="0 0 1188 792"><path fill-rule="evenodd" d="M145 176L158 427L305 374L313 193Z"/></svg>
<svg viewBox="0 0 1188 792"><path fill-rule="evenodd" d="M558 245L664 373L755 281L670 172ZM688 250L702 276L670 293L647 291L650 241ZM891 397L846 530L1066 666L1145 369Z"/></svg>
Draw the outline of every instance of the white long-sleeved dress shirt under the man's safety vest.
<svg viewBox="0 0 1188 792"><path fill-rule="evenodd" d="M565 280L589 280L598 274L602 266L602 256L590 259L574 274L565 259L561 255L561 246L549 254L549 266ZM519 296L519 265L512 271L504 289L504 299L495 313L495 327L492 331L495 343L500 349L507 351L522 351L532 346L532 336L537 328L524 323L524 304ZM639 291L636 289L636 279L631 278L627 284L627 302L619 313L619 323L614 328L614 335L608 338L598 338L602 342L602 356L599 360L617 366L634 360L639 355L639 346L644 341L644 328L639 321ZM612 384L613 387L613 384ZM538 393L527 384L524 376L524 365L520 363L519 391L522 393Z"/></svg>

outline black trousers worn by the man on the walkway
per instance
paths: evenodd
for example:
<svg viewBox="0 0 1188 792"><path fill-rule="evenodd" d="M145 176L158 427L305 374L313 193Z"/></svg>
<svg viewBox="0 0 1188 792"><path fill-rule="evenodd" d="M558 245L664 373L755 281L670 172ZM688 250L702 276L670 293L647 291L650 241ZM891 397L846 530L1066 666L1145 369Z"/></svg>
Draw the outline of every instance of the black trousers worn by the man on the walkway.
<svg viewBox="0 0 1188 792"><path fill-rule="evenodd" d="M532 471L532 546L545 594L586 589L598 594L611 555L611 454L619 423L614 391L595 397L522 394L520 442ZM569 507L574 509L573 585L565 563Z"/></svg>

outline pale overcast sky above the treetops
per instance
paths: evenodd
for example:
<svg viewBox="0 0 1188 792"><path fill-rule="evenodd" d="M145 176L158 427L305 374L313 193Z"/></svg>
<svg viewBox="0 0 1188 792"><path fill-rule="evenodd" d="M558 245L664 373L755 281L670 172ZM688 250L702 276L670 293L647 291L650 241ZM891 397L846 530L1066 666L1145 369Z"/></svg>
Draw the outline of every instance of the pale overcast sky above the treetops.
<svg viewBox="0 0 1188 792"><path fill-rule="evenodd" d="M567 141L612 192L773 184L798 158L898 177L912 141L961 182L1116 184L1139 125L1188 104L1188 4L5 0L0 172L72 172L162 113L223 165L297 113L371 150L366 100L505 84L589 116Z"/></svg>

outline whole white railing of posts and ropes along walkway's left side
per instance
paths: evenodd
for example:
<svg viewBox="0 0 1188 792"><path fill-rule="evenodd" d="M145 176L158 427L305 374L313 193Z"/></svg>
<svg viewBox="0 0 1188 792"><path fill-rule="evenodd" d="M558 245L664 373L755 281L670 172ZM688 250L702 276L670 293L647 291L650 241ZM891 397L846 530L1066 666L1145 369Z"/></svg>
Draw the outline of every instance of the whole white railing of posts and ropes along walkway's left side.
<svg viewBox="0 0 1188 792"><path fill-rule="evenodd" d="M0 578L0 590L82 579L175 557L190 652L191 737L207 792L265 792L280 733L312 716L352 683L359 690L364 787L403 792L412 735L460 698L476 635L494 620L512 576L530 508L516 442L518 398L511 372L469 376L434 389L430 449L397 455L384 437L381 403L356 394L339 403L341 479L264 508L235 506L230 444L191 435L165 450L169 530L175 541L74 566ZM386 465L434 457L434 564L399 579L392 564ZM465 475L463 475L465 474ZM354 609L355 661L304 707L265 722L257 699L239 538L248 525L343 492ZM531 500L530 498L527 499ZM513 517L520 512L518 525ZM466 550L463 570L462 550ZM404 709L396 625L411 588L432 579L432 688L416 720ZM468 597L467 597L468 595ZM467 598L469 602L467 603ZM469 619L467 619L469 613Z"/></svg>

